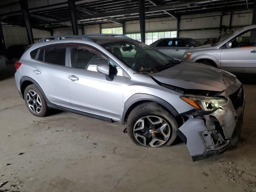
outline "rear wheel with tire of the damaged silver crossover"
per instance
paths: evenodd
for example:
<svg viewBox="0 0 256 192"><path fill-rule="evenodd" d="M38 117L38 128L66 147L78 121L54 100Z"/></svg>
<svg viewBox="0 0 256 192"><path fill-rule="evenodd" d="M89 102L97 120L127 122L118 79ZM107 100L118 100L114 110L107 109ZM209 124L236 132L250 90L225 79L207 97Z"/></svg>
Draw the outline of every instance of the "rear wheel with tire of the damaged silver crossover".
<svg viewBox="0 0 256 192"><path fill-rule="evenodd" d="M24 100L30 113L37 117L44 117L48 113L48 106L44 96L35 84L26 87Z"/></svg>

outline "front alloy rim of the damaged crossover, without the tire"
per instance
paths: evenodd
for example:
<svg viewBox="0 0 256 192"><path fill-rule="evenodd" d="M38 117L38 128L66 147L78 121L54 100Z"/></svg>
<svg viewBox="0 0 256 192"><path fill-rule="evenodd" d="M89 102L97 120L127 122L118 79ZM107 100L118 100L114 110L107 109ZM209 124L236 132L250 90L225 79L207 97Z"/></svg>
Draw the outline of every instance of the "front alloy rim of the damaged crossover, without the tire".
<svg viewBox="0 0 256 192"><path fill-rule="evenodd" d="M135 123L133 133L140 144L147 147L158 147L168 141L171 129L163 118L145 116Z"/></svg>

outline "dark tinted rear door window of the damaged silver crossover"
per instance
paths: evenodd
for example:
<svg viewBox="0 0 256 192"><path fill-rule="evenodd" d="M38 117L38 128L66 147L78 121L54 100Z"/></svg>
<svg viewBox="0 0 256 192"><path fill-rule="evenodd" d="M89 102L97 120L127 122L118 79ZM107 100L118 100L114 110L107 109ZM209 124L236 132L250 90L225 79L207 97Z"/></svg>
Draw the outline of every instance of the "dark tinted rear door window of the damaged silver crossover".
<svg viewBox="0 0 256 192"><path fill-rule="evenodd" d="M65 66L66 48L65 47L49 47L41 49L38 55L38 60Z"/></svg>

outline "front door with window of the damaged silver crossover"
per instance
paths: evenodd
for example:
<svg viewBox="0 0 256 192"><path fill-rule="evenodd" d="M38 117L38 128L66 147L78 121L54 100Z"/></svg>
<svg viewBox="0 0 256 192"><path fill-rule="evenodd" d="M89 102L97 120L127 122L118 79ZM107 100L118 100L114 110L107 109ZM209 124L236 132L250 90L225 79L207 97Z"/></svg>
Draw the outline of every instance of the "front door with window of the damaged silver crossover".
<svg viewBox="0 0 256 192"><path fill-rule="evenodd" d="M128 78L110 62L109 78L97 72L97 64L109 63L106 56L90 46L71 48L71 68L68 68L68 89L73 108L120 120L123 92Z"/></svg>

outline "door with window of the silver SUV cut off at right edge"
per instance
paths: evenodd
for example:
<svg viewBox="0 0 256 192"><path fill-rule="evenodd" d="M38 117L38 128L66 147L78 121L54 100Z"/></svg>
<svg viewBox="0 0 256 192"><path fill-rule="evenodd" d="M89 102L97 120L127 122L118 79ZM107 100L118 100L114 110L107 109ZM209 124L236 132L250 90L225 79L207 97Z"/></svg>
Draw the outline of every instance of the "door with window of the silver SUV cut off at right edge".
<svg viewBox="0 0 256 192"><path fill-rule="evenodd" d="M256 73L256 29L242 32L232 40L231 48L222 48L221 68L229 72Z"/></svg>

